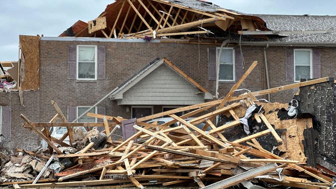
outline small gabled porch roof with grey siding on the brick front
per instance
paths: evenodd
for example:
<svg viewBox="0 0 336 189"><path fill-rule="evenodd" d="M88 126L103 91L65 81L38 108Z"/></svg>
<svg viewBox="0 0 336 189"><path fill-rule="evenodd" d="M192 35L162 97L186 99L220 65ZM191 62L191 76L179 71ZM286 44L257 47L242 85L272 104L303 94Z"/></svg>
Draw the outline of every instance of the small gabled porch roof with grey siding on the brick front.
<svg viewBox="0 0 336 189"><path fill-rule="evenodd" d="M119 85L110 99L118 105L192 105L212 94L166 58L156 58Z"/></svg>

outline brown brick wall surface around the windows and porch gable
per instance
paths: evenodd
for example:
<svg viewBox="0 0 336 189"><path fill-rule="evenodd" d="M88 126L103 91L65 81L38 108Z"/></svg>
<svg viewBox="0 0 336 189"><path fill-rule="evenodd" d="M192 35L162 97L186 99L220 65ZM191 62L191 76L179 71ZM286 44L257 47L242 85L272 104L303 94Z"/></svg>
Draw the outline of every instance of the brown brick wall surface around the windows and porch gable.
<svg viewBox="0 0 336 189"><path fill-rule="evenodd" d="M68 47L69 45L104 45L106 47L106 79L94 82L78 82L68 79ZM208 80L208 48L214 45L179 44L179 43L127 43L127 42L78 42L78 41L41 41L40 49L40 89L36 92L24 91L26 108L20 106L18 93L0 93L0 104L13 108L12 142L3 143L9 148L35 147L40 141L28 129L21 128L23 122L20 113L25 114L32 122L48 122L55 110L50 100L56 101L64 115L68 106L91 106L103 98L108 92L132 76L156 57L166 57L187 73L203 87L215 94L215 81ZM239 46L234 46L239 48ZM244 71L255 60L258 66L250 73L240 88L251 91L267 88L264 46L242 46ZM286 81L286 49L285 47L269 47L267 49L270 85L276 87L293 82ZM334 76L336 64L336 48L321 48L321 76ZM226 95L234 82L219 82L219 97ZM287 102L292 99L296 90L274 93L272 102ZM261 97L265 98L265 97ZM100 106L106 107L106 114L130 118L130 111L125 106L118 106L109 99ZM130 108L130 107L129 107ZM161 106L154 107L154 113L160 112ZM22 142L22 138L29 141ZM33 145L30 145L33 144Z"/></svg>

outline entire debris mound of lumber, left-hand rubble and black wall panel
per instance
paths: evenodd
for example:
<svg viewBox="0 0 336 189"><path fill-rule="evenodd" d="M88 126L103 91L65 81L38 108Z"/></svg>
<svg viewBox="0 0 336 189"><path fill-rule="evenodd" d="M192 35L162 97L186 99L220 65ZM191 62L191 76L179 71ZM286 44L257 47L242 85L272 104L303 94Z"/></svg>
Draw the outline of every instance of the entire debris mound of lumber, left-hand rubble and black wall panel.
<svg viewBox="0 0 336 189"><path fill-rule="evenodd" d="M318 136L335 127L329 124L336 122L333 78L264 91L243 91L233 96L256 65L246 71L224 99L133 120L88 113L104 123L56 123L54 118L48 123L33 123L21 115L26 122L23 127L37 133L47 145L35 152L19 149L2 166L2 185L14 184L16 188L90 185L333 188L336 177L333 157L325 157L323 161L319 157L335 153L334 139L327 141L331 146L321 148L325 141ZM296 87L300 91L293 98L298 103L295 105L257 99ZM323 87L328 92L323 93ZM318 113L316 108L309 109L307 101L311 97L303 93L316 88L323 93L321 97L332 101L319 104L314 101ZM55 102L53 105L57 115L62 116ZM256 111L246 114L253 106L257 107ZM183 111L186 114L175 115ZM324 121L325 115L331 117ZM147 123L163 116L173 119L161 125ZM243 117L247 127L239 121ZM174 123L179 124L171 127ZM123 138L111 137L119 126L127 129ZM67 132L54 138L49 132L51 127L66 127ZM97 127L104 127L105 131L99 132Z"/></svg>

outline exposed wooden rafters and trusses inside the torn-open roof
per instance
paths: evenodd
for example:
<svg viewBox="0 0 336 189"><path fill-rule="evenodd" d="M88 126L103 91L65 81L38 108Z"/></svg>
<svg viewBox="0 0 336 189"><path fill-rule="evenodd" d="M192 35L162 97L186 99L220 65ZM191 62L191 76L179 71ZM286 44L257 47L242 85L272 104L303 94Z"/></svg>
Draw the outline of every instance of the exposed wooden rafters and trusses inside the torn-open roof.
<svg viewBox="0 0 336 189"><path fill-rule="evenodd" d="M75 34L77 37L106 37L106 38L145 38L209 34L210 30L218 28L226 31L236 23L234 21L253 18L240 14L214 10L206 12L162 0L116 0L107 6L99 18L106 19L105 28L92 28L96 20L90 21L88 36ZM244 17L244 18L243 18ZM253 25L253 22L249 21ZM205 24L205 25L203 25ZM249 25L251 25L249 24ZM205 31L198 28L205 28ZM232 27L231 27L232 28ZM253 27L253 31L258 27ZM85 35L85 32L82 32ZM114 35L113 35L114 34Z"/></svg>

